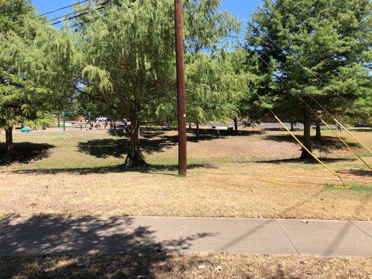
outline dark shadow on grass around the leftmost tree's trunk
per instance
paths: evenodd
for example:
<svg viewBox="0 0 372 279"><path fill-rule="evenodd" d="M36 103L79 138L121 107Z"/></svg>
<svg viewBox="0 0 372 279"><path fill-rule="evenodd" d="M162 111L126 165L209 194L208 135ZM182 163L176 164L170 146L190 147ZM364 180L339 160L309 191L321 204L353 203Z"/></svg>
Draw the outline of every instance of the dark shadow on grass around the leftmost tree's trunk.
<svg viewBox="0 0 372 279"><path fill-rule="evenodd" d="M32 142L15 142L13 153L5 153L5 143L0 143L0 166L12 163L27 164L33 160L47 158L50 149L54 148L51 144L35 144Z"/></svg>

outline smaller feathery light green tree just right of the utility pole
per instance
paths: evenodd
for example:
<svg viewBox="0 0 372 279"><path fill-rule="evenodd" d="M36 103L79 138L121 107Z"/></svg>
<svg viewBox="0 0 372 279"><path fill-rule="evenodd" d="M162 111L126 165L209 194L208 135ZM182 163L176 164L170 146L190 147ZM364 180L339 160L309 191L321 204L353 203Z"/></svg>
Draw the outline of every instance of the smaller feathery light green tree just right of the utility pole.
<svg viewBox="0 0 372 279"><path fill-rule="evenodd" d="M244 79L235 73L226 55L229 54L192 54L188 57L188 119L197 123L197 136L200 122L237 115L235 100L239 98L239 92L242 94L246 90Z"/></svg>

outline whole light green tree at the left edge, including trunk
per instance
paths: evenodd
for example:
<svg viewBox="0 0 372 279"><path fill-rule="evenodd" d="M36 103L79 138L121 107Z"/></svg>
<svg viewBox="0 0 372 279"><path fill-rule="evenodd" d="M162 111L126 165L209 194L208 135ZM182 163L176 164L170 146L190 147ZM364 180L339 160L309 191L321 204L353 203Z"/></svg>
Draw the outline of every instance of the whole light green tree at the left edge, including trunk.
<svg viewBox="0 0 372 279"><path fill-rule="evenodd" d="M0 30L0 127L8 153L13 126L47 119L73 90L75 55L71 34L47 24L27 0L2 0Z"/></svg>

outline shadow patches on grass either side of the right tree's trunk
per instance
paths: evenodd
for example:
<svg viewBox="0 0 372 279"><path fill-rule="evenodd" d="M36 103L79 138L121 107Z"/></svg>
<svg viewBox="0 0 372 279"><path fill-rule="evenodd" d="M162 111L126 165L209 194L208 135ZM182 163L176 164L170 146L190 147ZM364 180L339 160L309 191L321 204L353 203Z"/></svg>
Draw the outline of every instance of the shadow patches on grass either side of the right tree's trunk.
<svg viewBox="0 0 372 279"><path fill-rule="evenodd" d="M297 135L297 138L302 142L304 137L302 135ZM274 140L276 142L295 142L291 135L266 135L265 140ZM352 149L359 149L362 146L355 142L348 142L343 139ZM329 152L334 150L344 150L348 149L338 138L322 136L321 140L317 140L315 137L311 137L311 146L314 150L321 152Z"/></svg>

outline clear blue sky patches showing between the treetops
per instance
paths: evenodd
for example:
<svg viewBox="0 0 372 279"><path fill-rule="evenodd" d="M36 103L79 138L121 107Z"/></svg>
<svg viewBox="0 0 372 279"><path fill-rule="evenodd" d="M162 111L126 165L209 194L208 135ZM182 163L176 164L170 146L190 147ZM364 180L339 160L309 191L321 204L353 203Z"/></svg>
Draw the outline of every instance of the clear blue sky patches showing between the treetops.
<svg viewBox="0 0 372 279"><path fill-rule="evenodd" d="M40 14L51 10L69 6L76 3L76 0L31 0ZM243 22L243 29L246 27L246 21L253 11L262 3L262 0L221 0L221 10L228 10L232 15L236 15L239 21ZM48 15L50 19L70 13L72 9L60 10Z"/></svg>

